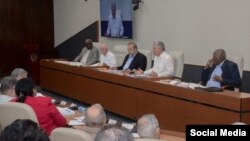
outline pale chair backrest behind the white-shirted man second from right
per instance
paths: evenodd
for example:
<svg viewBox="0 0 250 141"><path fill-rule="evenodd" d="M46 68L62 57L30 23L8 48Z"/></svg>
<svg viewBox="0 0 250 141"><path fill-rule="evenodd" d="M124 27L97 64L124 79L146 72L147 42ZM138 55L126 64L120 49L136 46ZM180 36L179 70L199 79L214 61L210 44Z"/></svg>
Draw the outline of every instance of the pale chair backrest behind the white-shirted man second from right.
<svg viewBox="0 0 250 141"><path fill-rule="evenodd" d="M174 59L175 77L182 78L184 68L184 53L181 51L170 51L169 55L171 55Z"/></svg>

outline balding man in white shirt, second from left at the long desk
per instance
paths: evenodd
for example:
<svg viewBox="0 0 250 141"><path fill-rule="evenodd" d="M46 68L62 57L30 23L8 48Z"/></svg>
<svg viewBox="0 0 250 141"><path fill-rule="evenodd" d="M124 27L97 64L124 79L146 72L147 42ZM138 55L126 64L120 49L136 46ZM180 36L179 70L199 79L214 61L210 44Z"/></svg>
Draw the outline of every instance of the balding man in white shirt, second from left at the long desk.
<svg viewBox="0 0 250 141"><path fill-rule="evenodd" d="M108 66L108 67L116 67L116 58L115 55L109 51L108 46L106 44L100 45L100 63L99 66Z"/></svg>

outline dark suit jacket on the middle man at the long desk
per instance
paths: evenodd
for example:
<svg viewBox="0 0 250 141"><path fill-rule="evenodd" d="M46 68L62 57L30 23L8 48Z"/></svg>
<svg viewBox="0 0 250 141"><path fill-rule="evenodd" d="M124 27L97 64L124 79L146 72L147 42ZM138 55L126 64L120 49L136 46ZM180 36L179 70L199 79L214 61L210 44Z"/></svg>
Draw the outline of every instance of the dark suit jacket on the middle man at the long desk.
<svg viewBox="0 0 250 141"><path fill-rule="evenodd" d="M127 60L129 58L129 54L126 55L122 65L120 67L117 67L118 70L122 70L123 69L123 66L126 64ZM134 59L132 60L130 66L129 66L129 69L130 70L133 70L133 69L142 69L143 71L145 71L147 67L147 58L145 55L143 55L142 53L138 52Z"/></svg>

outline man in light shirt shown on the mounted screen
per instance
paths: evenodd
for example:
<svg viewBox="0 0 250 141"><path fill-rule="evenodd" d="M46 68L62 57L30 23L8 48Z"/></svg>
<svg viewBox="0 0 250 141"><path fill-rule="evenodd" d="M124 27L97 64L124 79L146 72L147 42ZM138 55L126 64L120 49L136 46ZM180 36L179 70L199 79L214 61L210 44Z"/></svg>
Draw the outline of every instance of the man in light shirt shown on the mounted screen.
<svg viewBox="0 0 250 141"><path fill-rule="evenodd" d="M124 32L124 27L122 24L121 15L117 13L116 3L111 5L111 15L108 20L108 28L106 31L106 36L111 37L122 37Z"/></svg>

